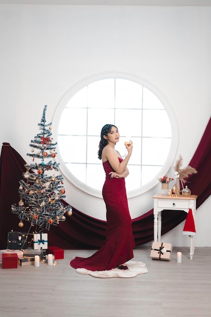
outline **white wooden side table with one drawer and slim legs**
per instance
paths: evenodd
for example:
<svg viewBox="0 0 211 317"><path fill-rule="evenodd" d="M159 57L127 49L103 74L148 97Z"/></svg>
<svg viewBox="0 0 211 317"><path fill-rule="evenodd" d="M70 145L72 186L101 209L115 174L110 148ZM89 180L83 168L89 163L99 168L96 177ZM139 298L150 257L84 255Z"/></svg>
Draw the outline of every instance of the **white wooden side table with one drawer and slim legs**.
<svg viewBox="0 0 211 317"><path fill-rule="evenodd" d="M196 199L197 195L163 195L157 194L152 197L154 199L154 242L160 242L161 238L161 213L162 210L184 210L189 212L189 209L193 211L193 217L196 212ZM193 235L190 235L190 260L193 259L194 254L194 239Z"/></svg>

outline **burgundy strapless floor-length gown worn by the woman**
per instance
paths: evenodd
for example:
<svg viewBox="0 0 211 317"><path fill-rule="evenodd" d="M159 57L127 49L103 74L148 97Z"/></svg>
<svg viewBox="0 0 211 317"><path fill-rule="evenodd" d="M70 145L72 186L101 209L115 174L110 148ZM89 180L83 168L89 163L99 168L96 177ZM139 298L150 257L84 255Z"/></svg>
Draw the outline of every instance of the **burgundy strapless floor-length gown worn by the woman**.
<svg viewBox="0 0 211 317"><path fill-rule="evenodd" d="M119 158L119 161L122 159ZM106 173L102 190L106 204L106 240L92 256L76 257L70 261L74 268L86 268L91 271L110 270L134 257L135 243L124 178L110 178L109 173L113 169L108 161L103 163L103 167Z"/></svg>

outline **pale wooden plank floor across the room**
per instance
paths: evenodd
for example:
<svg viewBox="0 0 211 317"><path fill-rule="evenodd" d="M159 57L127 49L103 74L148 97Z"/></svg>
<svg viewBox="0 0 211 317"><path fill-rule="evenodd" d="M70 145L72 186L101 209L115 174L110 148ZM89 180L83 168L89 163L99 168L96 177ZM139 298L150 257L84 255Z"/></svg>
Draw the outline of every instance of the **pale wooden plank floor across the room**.
<svg viewBox="0 0 211 317"><path fill-rule="evenodd" d="M182 263L177 263L177 252ZM98 279L78 274L69 261L90 250L65 250L57 265L0 267L1 317L211 316L211 248L174 248L170 262L152 260L150 247L134 250L148 273Z"/></svg>

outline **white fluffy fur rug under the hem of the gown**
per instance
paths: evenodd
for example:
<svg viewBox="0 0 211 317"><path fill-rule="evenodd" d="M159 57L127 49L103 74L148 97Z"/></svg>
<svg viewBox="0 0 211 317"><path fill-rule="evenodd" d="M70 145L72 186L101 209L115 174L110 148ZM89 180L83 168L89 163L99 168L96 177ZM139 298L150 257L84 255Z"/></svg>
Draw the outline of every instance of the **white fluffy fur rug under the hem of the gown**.
<svg viewBox="0 0 211 317"><path fill-rule="evenodd" d="M148 272L146 264L143 262L128 261L126 262L128 270L120 270L119 268L112 268L108 271L90 271L86 268L77 268L76 272L80 274L89 274L94 278L135 278L138 274L144 274Z"/></svg>

